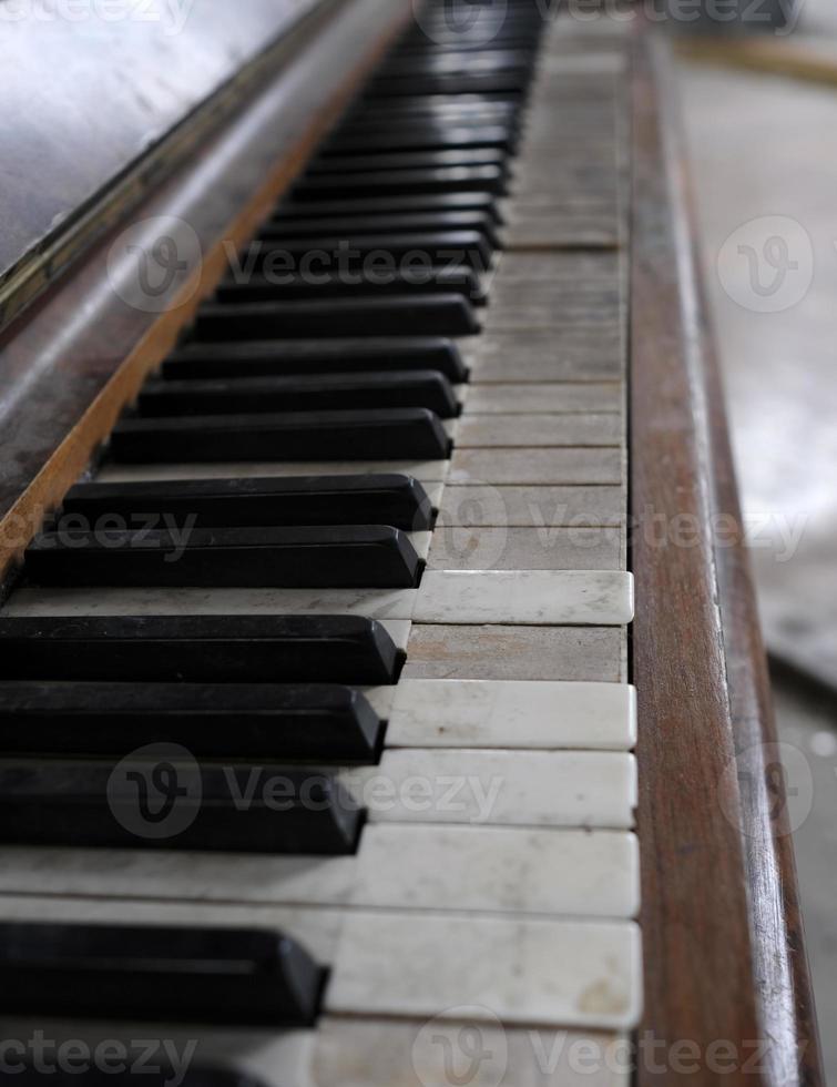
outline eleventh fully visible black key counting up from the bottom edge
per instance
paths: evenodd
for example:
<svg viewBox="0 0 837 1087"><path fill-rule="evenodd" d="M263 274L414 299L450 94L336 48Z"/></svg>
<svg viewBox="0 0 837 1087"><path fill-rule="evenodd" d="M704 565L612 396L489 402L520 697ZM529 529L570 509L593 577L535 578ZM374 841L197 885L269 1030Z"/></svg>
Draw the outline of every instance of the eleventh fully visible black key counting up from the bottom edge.
<svg viewBox="0 0 837 1087"><path fill-rule="evenodd" d="M329 272L310 276L292 273L279 276L248 275L236 283L227 280L215 291L215 301L223 305L241 305L252 302L295 302L308 298L324 302L330 298L350 298L363 302L367 298L388 296L460 294L471 305L483 306L486 291L473 268L465 265L447 267L419 266L412 270L386 271L384 273L349 273L340 275Z"/></svg>

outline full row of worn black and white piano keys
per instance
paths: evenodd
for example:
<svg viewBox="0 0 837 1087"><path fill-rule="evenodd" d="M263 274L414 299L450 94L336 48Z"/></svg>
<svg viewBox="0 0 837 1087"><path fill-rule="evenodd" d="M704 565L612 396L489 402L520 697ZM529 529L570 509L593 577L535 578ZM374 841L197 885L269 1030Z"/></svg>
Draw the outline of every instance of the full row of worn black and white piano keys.
<svg viewBox="0 0 837 1087"><path fill-rule="evenodd" d="M624 47L486 11L385 58L29 549L4 1037L630 1080Z"/></svg>

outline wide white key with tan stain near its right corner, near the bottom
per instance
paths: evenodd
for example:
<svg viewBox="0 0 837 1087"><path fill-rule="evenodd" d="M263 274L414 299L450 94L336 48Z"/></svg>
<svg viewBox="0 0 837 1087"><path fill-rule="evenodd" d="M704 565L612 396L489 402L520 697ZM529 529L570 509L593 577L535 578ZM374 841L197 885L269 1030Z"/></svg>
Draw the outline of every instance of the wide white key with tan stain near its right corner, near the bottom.
<svg viewBox="0 0 837 1087"><path fill-rule="evenodd" d="M509 1023L627 1029L639 1013L640 936L627 921L31 895L0 896L0 918L276 928L333 964L325 1009L340 1014L430 1017L473 1004Z"/></svg>

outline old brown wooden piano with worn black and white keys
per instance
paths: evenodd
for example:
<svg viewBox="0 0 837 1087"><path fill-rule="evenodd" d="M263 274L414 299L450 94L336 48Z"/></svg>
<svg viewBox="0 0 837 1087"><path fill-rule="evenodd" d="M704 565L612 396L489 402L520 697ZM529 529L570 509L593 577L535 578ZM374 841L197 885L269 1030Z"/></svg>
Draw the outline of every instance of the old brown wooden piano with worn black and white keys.
<svg viewBox="0 0 837 1087"><path fill-rule="evenodd" d="M823 1084L661 31L174 14L12 24L4 1078Z"/></svg>

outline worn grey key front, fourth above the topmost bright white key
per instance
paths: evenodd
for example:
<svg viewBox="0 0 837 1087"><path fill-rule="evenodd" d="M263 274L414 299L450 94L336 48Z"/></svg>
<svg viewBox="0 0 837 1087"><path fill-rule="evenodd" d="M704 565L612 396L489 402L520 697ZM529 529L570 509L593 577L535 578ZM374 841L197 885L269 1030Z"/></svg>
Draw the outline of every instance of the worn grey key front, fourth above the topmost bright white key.
<svg viewBox="0 0 837 1087"><path fill-rule="evenodd" d="M617 446L624 427L619 415L467 415L460 419L458 449L506 447Z"/></svg>

